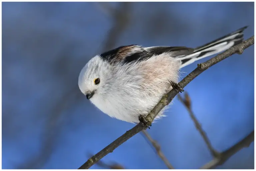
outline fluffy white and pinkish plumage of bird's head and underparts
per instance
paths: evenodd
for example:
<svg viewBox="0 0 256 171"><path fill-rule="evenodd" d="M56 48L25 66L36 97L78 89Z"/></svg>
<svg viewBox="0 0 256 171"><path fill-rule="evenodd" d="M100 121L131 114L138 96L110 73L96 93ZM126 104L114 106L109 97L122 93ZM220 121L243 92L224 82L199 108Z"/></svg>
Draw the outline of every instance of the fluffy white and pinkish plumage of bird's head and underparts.
<svg viewBox="0 0 256 171"><path fill-rule="evenodd" d="M88 68L94 68L95 63L99 66L92 72ZM110 117L138 123L139 115L146 116L171 90L169 81L178 81L180 62L170 53L162 53L139 63L111 66L96 56L85 67L79 77L79 87L83 93L96 88L91 102ZM99 86L92 83L98 77L101 79Z"/></svg>

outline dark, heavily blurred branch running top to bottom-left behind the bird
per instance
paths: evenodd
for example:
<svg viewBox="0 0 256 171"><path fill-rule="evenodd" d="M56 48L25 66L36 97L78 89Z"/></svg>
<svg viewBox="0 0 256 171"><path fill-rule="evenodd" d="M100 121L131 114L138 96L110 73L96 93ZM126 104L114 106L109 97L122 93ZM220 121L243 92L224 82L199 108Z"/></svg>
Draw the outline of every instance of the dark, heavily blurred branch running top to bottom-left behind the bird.
<svg viewBox="0 0 256 171"><path fill-rule="evenodd" d="M101 3L100 3L101 4ZM105 3L104 3L105 4ZM108 5L109 6L109 5ZM109 6L110 7L110 6ZM103 51L109 50L113 48L118 41L118 38L128 26L129 15L131 14L131 3L129 2L120 2L118 3L117 8L107 8L108 12L111 12L113 27L110 29L108 36L104 41ZM73 86L73 82L71 82L69 90L66 93L63 93L60 100L56 102L54 105L52 112L50 112L49 117L46 121L46 128L43 133L43 142L40 153L33 158L29 159L25 163L18 165L17 169L39 169L42 168L50 155L52 154L52 150L54 149L54 145L57 139L57 134L59 130L59 126L57 122L61 114L65 109L68 109L72 104L77 103L79 101L79 93L77 84ZM71 97L74 97L72 101Z"/></svg>

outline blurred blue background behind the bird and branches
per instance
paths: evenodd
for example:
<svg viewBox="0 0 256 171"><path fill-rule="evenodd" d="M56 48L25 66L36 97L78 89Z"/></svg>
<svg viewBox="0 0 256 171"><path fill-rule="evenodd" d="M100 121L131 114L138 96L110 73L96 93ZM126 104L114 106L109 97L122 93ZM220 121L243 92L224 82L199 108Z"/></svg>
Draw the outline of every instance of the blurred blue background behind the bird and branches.
<svg viewBox="0 0 256 171"><path fill-rule="evenodd" d="M254 2L2 3L2 168L77 169L134 127L96 109L78 75L94 55L121 45L197 47L248 25ZM199 60L182 68L183 77ZM223 151L254 129L254 45L209 68L184 88L213 147ZM212 156L183 104L148 133L176 169ZM142 133L103 162L166 169ZM101 169L93 165L92 169ZM218 169L253 169L254 142Z"/></svg>

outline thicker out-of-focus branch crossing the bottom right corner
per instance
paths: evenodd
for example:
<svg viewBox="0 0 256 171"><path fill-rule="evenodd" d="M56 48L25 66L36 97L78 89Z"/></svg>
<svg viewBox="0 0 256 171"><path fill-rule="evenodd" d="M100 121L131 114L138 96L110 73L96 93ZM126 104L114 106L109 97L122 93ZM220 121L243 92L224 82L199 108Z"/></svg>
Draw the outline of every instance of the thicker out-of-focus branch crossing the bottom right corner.
<svg viewBox="0 0 256 171"><path fill-rule="evenodd" d="M235 153L237 153L239 150L241 150L244 147L249 147L250 144L254 141L254 130L247 135L244 139L230 147L229 149L223 151L220 153L219 157L215 157L212 161L209 163L206 163L204 166L202 166L200 169L213 169L219 165L222 165Z"/></svg>

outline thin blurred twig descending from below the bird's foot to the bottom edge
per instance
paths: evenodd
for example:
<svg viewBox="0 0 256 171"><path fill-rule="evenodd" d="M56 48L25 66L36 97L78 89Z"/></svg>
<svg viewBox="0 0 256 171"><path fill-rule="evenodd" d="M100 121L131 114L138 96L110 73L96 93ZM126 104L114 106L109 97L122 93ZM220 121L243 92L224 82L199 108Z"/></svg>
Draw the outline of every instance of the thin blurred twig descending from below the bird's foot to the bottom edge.
<svg viewBox="0 0 256 171"><path fill-rule="evenodd" d="M164 161L165 165L168 167L168 169L174 169L174 167L171 165L171 163L168 161L168 159L165 157L165 155L163 154L163 152L161 151L161 147L160 145L157 143L157 141L155 141L154 139L152 139L152 137L149 135L149 133L146 130L142 130L142 132L144 133L144 135L146 136L146 138L152 143L152 145L154 146L154 148L156 149L156 153L157 155L159 155L159 157Z"/></svg>

